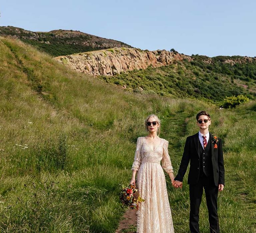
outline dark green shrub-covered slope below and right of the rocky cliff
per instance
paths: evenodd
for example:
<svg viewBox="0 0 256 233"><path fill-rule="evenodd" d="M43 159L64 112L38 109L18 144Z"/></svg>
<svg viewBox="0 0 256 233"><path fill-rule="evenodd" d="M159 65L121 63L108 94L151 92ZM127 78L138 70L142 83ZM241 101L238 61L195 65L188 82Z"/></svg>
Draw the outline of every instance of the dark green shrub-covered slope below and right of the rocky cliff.
<svg viewBox="0 0 256 233"><path fill-rule="evenodd" d="M200 98L221 105L225 96L256 96L256 60L235 65L224 63L230 59L243 57L216 57L206 63L208 57L192 56L193 60L183 60L160 68L149 67L115 76L99 78L126 90L146 94L157 94L172 98Z"/></svg>

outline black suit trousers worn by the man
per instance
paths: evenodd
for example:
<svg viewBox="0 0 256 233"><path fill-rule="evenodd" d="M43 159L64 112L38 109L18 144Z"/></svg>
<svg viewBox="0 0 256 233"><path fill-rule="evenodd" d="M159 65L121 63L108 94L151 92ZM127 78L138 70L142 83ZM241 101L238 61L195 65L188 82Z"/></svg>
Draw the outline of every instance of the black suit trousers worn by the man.
<svg viewBox="0 0 256 233"><path fill-rule="evenodd" d="M218 219L218 187L214 185L213 177L206 177L203 175L199 178L198 183L189 185L190 197L190 214L189 214L189 228L191 233L199 233L199 207L202 200L203 188L206 196L206 204L209 213L209 224L211 233L219 233L219 219Z"/></svg>

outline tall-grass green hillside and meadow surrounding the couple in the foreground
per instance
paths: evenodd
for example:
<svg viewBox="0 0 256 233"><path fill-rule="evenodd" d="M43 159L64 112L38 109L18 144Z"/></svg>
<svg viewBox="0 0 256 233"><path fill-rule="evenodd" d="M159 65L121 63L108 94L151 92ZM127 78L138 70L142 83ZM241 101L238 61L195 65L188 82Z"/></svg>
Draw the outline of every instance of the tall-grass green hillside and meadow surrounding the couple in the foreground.
<svg viewBox="0 0 256 233"><path fill-rule="evenodd" d="M144 118L161 118L177 172L202 109L225 143L222 232L256 231L255 102L227 111L202 100L129 93L15 40L0 38L0 51L1 232L114 232L123 212L118 186L129 182ZM188 232L188 186L167 183L175 232Z"/></svg>

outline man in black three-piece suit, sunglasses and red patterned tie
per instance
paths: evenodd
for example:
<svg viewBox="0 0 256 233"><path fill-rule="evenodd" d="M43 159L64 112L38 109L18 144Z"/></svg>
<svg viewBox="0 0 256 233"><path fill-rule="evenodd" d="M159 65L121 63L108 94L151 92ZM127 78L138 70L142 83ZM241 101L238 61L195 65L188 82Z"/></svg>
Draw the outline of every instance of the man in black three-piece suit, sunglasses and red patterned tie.
<svg viewBox="0 0 256 233"><path fill-rule="evenodd" d="M199 132L187 137L179 171L173 185L182 187L183 177L190 161L188 174L190 231L199 233L199 207L204 189L209 213L210 232L219 233L217 196L218 191L222 191L224 188L222 141L209 133L211 117L207 112L198 113L196 120Z"/></svg>

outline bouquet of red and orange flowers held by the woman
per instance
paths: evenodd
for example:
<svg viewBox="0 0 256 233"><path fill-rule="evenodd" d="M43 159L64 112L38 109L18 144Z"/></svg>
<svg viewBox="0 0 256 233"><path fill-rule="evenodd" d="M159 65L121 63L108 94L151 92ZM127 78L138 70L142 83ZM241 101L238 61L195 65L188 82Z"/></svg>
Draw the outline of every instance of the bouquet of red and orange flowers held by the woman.
<svg viewBox="0 0 256 233"><path fill-rule="evenodd" d="M135 185L129 184L127 187L121 186L120 200L123 205L129 206L131 209L137 207L139 202L145 201L139 195L139 190Z"/></svg>

